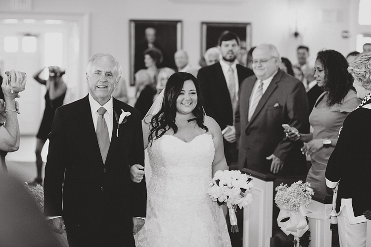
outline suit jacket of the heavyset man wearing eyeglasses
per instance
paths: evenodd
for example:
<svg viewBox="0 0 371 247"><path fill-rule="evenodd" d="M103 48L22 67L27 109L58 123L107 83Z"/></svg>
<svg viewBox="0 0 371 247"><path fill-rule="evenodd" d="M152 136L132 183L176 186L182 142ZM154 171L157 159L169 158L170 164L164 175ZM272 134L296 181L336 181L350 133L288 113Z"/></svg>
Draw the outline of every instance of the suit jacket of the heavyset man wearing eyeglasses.
<svg viewBox="0 0 371 247"><path fill-rule="evenodd" d="M278 175L305 174L302 143L285 137L281 126L289 124L300 133L308 133L309 108L303 83L278 70L248 121L249 99L256 80L256 76L247 78L239 90L235 113L238 168L269 172L272 160L266 157L273 153L284 161Z"/></svg>

